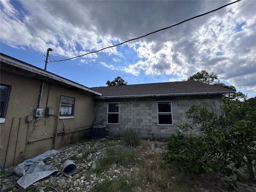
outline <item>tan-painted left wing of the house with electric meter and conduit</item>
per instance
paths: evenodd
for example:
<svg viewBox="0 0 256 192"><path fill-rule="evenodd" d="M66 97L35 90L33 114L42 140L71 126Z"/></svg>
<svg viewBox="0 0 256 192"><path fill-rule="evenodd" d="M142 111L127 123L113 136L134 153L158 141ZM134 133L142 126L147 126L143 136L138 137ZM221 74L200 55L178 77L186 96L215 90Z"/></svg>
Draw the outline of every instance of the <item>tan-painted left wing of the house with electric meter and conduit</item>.
<svg viewBox="0 0 256 192"><path fill-rule="evenodd" d="M90 131L93 96L100 93L2 53L0 61L1 166L66 146Z"/></svg>

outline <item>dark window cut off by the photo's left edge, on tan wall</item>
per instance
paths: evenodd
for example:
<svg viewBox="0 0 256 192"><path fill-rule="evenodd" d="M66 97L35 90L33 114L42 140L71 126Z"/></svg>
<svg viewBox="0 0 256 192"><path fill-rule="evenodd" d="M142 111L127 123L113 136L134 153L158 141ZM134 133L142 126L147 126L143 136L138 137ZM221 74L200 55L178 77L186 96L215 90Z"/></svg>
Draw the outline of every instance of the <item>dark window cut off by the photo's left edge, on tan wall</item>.
<svg viewBox="0 0 256 192"><path fill-rule="evenodd" d="M0 123L4 123L10 96L11 86L0 84Z"/></svg>

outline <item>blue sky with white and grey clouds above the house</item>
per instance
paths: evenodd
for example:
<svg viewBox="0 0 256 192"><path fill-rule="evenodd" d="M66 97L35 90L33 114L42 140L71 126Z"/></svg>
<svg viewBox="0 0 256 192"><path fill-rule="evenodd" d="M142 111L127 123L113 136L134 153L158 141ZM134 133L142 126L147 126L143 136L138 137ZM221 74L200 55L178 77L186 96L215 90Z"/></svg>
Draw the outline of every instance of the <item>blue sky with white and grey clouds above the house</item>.
<svg viewBox="0 0 256 192"><path fill-rule="evenodd" d="M0 52L86 87L182 81L200 70L256 96L256 1L0 0ZM71 60L52 62L81 56Z"/></svg>

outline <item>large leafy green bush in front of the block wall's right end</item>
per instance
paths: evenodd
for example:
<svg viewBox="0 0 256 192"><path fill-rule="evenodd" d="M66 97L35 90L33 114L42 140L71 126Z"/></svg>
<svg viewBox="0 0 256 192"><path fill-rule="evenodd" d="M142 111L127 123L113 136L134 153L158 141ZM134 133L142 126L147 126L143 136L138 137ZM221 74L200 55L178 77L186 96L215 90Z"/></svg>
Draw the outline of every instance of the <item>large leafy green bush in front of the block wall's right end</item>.
<svg viewBox="0 0 256 192"><path fill-rule="evenodd" d="M230 165L234 164L236 168L246 165L249 177L255 180L256 122L253 114L256 108L241 104L240 112L237 112L235 105L230 107L234 108L224 116L209 110L204 104L192 105L186 112L189 123L178 127L202 134L171 134L167 150L163 153L164 161L179 162L180 170L184 172L202 174L215 171L225 176L237 174ZM252 112L243 114L249 107Z"/></svg>

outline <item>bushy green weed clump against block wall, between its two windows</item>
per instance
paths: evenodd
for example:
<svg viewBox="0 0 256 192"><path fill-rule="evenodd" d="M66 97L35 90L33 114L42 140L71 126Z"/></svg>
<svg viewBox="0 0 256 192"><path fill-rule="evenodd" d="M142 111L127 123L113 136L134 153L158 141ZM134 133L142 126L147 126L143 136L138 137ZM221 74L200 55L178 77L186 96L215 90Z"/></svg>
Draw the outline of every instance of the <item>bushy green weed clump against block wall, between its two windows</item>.
<svg viewBox="0 0 256 192"><path fill-rule="evenodd" d="M134 129L125 130L123 140L127 146L138 146L140 145L140 134Z"/></svg>

